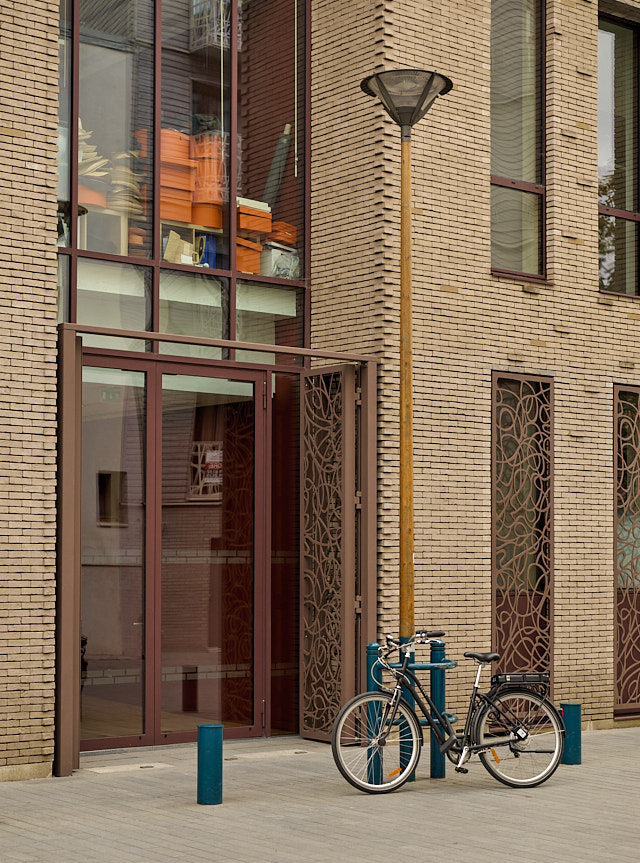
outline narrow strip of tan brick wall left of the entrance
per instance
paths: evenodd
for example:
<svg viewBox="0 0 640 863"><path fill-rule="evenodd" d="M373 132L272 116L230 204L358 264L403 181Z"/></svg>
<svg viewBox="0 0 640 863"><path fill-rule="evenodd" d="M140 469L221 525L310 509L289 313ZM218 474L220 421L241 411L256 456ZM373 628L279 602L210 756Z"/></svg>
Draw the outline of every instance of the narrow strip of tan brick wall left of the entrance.
<svg viewBox="0 0 640 863"><path fill-rule="evenodd" d="M0 780L53 755L57 14L0 0Z"/></svg>

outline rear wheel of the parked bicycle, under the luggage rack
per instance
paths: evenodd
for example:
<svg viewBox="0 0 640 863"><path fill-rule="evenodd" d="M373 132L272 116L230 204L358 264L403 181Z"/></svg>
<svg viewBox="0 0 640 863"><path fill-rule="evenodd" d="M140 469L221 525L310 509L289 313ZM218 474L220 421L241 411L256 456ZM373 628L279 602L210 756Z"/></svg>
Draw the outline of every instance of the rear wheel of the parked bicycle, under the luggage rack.
<svg viewBox="0 0 640 863"><path fill-rule="evenodd" d="M480 760L499 782L532 788L555 771L564 748L564 726L548 701L527 689L498 693L475 724L475 742L489 746Z"/></svg>

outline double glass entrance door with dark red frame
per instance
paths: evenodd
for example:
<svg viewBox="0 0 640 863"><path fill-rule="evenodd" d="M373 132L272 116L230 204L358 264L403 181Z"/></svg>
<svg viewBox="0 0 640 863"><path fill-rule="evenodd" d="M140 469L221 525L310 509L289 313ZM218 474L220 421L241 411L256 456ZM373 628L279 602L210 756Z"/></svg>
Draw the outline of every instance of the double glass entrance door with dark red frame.
<svg viewBox="0 0 640 863"><path fill-rule="evenodd" d="M261 734L264 375L96 363L83 371L81 746L193 740L202 722Z"/></svg>

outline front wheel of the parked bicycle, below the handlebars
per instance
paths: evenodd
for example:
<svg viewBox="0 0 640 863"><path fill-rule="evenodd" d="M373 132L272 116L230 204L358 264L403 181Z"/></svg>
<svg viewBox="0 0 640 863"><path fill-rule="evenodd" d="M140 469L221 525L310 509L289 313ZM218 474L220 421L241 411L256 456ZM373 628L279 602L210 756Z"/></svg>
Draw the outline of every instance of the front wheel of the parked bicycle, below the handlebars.
<svg viewBox="0 0 640 863"><path fill-rule="evenodd" d="M365 692L345 704L331 736L340 773L370 794L404 785L416 768L421 744L413 710L400 700L394 711L392 697L385 692Z"/></svg>

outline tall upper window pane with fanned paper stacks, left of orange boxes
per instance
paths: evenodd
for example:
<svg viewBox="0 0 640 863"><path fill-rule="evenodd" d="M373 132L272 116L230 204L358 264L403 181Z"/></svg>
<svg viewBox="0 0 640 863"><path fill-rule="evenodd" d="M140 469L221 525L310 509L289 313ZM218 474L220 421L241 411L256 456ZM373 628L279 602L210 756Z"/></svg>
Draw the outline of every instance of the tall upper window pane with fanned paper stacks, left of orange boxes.
<svg viewBox="0 0 640 863"><path fill-rule="evenodd" d="M153 2L80 0L78 247L151 254Z"/></svg>

